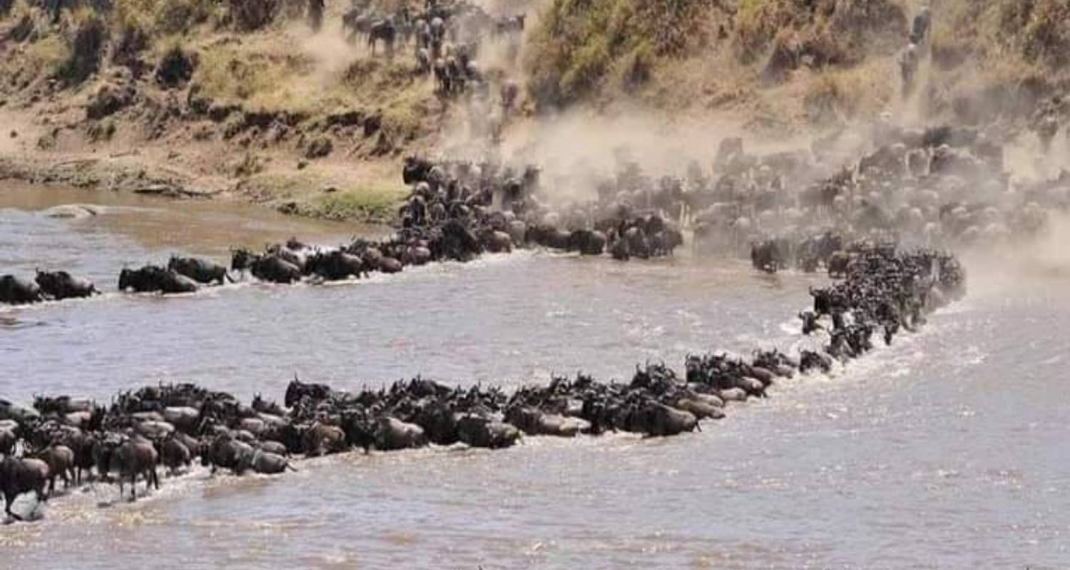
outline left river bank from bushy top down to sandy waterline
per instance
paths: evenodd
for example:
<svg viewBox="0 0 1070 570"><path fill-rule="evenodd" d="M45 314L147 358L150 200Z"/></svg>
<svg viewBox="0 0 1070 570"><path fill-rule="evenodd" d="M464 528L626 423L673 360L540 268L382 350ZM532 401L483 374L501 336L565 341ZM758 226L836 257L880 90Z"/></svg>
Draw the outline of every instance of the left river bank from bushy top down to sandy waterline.
<svg viewBox="0 0 1070 570"><path fill-rule="evenodd" d="M434 148L448 109L408 58L347 43L341 12L318 34L300 20L257 33L197 20L175 44L146 29L127 53L114 14L50 22L18 3L0 18L0 180L393 220L401 159ZM106 22L85 56L93 73L72 77L67 44L94 18Z"/></svg>

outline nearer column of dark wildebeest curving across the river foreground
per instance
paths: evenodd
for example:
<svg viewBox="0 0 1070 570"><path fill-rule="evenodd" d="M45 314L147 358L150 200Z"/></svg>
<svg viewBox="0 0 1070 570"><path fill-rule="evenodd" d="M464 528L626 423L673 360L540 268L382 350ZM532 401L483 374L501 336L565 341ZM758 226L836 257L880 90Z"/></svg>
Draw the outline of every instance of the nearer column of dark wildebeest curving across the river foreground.
<svg viewBox="0 0 1070 570"><path fill-rule="evenodd" d="M194 460L236 475L279 474L295 456L354 448L369 452L463 444L500 449L522 436L571 437L624 431L669 436L724 416L728 402L764 397L778 379L827 372L872 349L874 334L890 343L901 328L964 292L956 258L928 250L897 252L862 247L844 279L812 289L804 332L827 329L820 350L791 356L756 350L749 357L714 352L688 356L685 372L663 364L637 366L630 382L600 382L582 373L513 394L416 378L381 389L341 391L294 378L281 405L257 396L249 404L192 384L159 384L124 391L108 405L70 396L39 396L32 406L0 400L0 488L13 519L14 499L47 500L64 487L114 481L121 495L138 479L159 487L158 468L172 473ZM36 509L36 507L34 507Z"/></svg>

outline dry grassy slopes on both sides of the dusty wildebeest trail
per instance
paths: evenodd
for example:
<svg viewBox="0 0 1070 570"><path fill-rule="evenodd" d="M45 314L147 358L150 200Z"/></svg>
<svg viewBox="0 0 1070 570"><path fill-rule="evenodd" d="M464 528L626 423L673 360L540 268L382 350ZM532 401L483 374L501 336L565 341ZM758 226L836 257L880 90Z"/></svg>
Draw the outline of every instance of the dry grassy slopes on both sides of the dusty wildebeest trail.
<svg viewBox="0 0 1070 570"><path fill-rule="evenodd" d="M899 101L895 52L919 4L544 0L523 50L528 99L730 113L781 133L885 110L1013 122L1070 84L1067 0L943 0L927 87ZM412 75L408 53L372 60L342 42L330 28L341 7L328 6L328 28L314 36L286 5L249 31L219 0L116 0L57 24L27 0L0 0L0 115L19 132L4 149L46 161L124 156L122 176L82 170L79 182L173 174L296 214L388 217L403 194L399 156L434 144L452 111ZM196 65L165 87L155 71L177 46ZM128 106L87 117L102 88L126 87ZM306 158L323 139L330 156ZM164 173L139 170L154 168Z"/></svg>

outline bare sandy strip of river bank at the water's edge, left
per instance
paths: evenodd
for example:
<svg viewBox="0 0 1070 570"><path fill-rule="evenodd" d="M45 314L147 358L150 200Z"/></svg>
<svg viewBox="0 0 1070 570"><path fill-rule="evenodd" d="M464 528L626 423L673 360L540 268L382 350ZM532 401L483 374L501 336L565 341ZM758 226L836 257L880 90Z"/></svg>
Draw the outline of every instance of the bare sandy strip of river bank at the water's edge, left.
<svg viewBox="0 0 1070 570"><path fill-rule="evenodd" d="M135 133L94 141L78 121L26 103L0 109L0 180L175 199L250 203L310 218L386 222L404 196L395 158L315 164L284 144L257 151L194 140L178 127L159 140ZM63 126L57 126L62 124ZM135 126L135 125L132 125Z"/></svg>

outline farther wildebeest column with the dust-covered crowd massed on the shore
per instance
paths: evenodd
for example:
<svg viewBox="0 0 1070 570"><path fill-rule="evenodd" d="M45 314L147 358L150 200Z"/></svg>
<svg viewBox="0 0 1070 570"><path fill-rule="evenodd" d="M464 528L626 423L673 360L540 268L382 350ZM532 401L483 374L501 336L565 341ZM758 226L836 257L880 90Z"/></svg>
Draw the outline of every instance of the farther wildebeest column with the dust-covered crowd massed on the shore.
<svg viewBox="0 0 1070 570"><path fill-rule="evenodd" d="M740 139L725 139L716 180L692 165L683 179L655 181L637 163L621 160L615 176L595 183L596 199L571 203L552 200L536 167L411 157L402 178L412 191L388 240L356 238L330 248L290 240L262 251L235 249L229 268L173 257L166 266L123 268L118 286L171 294L249 275L276 283L318 282L529 246L648 259L672 255L684 243L685 227L693 230L697 255L749 251L762 271L842 276L860 248L956 248L1025 238L1043 230L1048 212L1070 205L1070 175L1012 184L1003 171L1002 147L975 130L887 127L878 138L893 142L824 176L823 149L835 141L816 141L807 152L755 155L744 151ZM6 304L96 292L66 272L39 272L35 280L0 277L0 303Z"/></svg>

